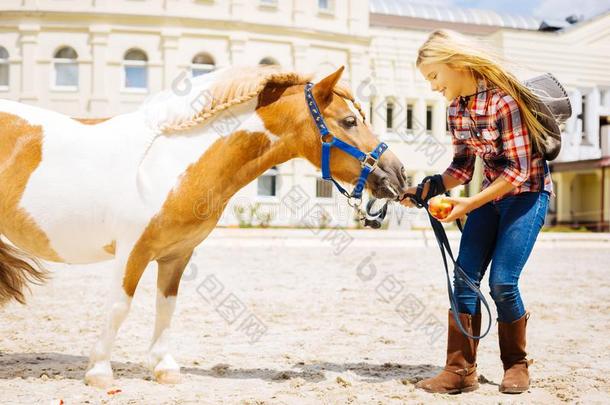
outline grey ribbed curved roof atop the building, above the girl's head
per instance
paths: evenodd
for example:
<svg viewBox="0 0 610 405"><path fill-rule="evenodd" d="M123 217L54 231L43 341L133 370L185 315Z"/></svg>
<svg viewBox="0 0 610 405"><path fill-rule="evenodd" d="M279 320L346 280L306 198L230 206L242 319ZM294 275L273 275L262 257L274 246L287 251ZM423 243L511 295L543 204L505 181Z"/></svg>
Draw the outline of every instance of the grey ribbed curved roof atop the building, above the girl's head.
<svg viewBox="0 0 610 405"><path fill-rule="evenodd" d="M491 10L474 8L441 7L413 0L370 0L369 12L388 16L525 30L538 30L542 22L532 16L499 14Z"/></svg>

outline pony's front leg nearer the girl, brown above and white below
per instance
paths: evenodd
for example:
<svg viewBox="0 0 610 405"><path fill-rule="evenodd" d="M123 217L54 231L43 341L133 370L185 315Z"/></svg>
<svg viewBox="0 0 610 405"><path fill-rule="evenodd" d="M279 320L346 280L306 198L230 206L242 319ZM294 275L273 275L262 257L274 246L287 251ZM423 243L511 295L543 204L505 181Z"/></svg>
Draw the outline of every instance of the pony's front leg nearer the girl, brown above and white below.
<svg viewBox="0 0 610 405"><path fill-rule="evenodd" d="M150 345L148 363L155 380L162 384L180 382L180 366L170 353L170 324L176 307L176 295L182 272L192 251L169 260L158 260L157 318Z"/></svg>

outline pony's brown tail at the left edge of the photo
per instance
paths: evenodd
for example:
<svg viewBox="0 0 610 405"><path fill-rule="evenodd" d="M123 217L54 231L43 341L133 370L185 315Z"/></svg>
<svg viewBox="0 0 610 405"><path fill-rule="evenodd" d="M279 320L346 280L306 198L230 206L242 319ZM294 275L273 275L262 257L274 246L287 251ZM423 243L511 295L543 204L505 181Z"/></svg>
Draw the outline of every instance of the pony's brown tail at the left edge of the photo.
<svg viewBox="0 0 610 405"><path fill-rule="evenodd" d="M42 284L48 278L48 271L36 258L0 239L0 307L13 298L25 304L28 284Z"/></svg>

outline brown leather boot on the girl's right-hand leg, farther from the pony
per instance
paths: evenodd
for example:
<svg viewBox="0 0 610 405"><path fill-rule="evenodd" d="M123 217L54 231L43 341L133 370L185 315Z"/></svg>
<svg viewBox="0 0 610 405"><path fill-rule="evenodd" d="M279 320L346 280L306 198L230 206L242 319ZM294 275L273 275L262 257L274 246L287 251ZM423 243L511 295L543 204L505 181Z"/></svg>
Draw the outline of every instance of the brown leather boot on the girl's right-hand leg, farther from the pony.
<svg viewBox="0 0 610 405"><path fill-rule="evenodd" d="M512 323L498 321L500 358L504 364L500 392L520 394L530 387L528 367L533 361L525 358L525 327L529 316L529 313L526 313Z"/></svg>

